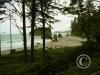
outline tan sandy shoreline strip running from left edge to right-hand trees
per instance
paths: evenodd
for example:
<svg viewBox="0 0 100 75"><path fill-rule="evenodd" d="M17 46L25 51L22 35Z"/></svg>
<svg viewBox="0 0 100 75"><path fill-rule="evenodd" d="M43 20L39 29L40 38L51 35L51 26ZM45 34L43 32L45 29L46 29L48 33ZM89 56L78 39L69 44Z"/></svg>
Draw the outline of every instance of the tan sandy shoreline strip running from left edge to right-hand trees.
<svg viewBox="0 0 100 75"><path fill-rule="evenodd" d="M64 48L64 47L72 47L72 46L81 46L81 42L86 41L85 39L81 39L80 37L76 36L67 36L63 38L58 38L58 41L50 41L47 42L45 45L45 49L56 49L56 48ZM28 50L30 50L31 47L27 47ZM35 45L36 50L42 49L41 43L36 43ZM22 48L15 48L16 51L22 51ZM1 51L2 54L8 54L10 53L10 50L3 50Z"/></svg>

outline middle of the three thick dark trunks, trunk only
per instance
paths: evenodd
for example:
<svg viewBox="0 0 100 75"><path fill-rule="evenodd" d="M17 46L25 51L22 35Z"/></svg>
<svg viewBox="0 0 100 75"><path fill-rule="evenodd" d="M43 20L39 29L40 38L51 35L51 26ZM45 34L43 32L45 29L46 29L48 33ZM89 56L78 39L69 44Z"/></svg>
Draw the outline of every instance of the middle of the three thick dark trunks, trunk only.
<svg viewBox="0 0 100 75"><path fill-rule="evenodd" d="M35 27L35 0L32 0L32 23L31 23L31 63L34 61L34 27Z"/></svg>

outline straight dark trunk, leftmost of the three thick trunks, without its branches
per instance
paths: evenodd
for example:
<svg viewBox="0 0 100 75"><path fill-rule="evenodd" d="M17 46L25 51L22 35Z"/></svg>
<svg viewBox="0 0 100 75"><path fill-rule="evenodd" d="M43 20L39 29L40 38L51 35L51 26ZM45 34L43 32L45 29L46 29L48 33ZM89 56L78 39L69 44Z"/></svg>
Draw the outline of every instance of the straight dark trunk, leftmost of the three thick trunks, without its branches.
<svg viewBox="0 0 100 75"><path fill-rule="evenodd" d="M22 1L23 10L23 42L24 42L24 59L27 63L27 37L26 37L26 21L25 21L25 0Z"/></svg>

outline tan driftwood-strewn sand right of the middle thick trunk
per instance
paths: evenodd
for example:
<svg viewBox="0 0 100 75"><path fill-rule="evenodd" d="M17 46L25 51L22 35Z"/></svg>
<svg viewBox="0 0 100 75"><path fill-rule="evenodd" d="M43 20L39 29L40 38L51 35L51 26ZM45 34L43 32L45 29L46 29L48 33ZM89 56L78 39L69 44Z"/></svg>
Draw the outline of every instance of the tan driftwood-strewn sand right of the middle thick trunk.
<svg viewBox="0 0 100 75"><path fill-rule="evenodd" d="M58 38L58 41L51 41L46 43L46 49L55 49L55 48L62 48L62 47L71 47L71 46L80 46L86 39L82 39L76 36L67 36L63 38ZM35 46L36 49L41 49L42 44L37 43Z"/></svg>

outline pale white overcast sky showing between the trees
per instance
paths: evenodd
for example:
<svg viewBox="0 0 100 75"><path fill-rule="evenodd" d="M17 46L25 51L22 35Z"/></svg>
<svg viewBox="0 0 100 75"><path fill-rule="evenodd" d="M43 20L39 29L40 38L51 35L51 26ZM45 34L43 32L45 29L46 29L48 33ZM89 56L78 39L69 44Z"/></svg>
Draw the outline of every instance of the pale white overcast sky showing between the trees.
<svg viewBox="0 0 100 75"><path fill-rule="evenodd" d="M69 4L69 0L66 0L67 4ZM61 3L64 2L64 0L60 0ZM16 5L17 6L17 5ZM2 15L2 17L5 17ZM55 16L60 22L54 23L52 25L53 30L52 31L68 31L71 30L71 21L74 19L75 16L66 14L62 15L59 14ZM14 15L14 19L16 19L18 26L22 27L22 21L21 19L18 18L18 16ZM26 25L29 25L29 22L26 23ZM1 23L0 22L0 33L1 34L9 34L10 33L10 20L6 19L5 22ZM27 33L30 32L30 29L27 29ZM12 34L19 34L20 32L18 31L17 27L12 24Z"/></svg>

